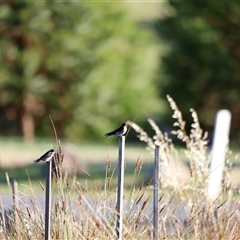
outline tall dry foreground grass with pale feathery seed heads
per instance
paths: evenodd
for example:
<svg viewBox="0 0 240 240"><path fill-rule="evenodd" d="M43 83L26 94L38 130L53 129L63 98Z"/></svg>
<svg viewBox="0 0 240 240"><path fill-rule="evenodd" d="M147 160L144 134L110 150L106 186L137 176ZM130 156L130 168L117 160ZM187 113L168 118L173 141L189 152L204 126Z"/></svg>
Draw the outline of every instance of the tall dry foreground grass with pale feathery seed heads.
<svg viewBox="0 0 240 240"><path fill-rule="evenodd" d="M210 161L207 135L192 109L193 123L190 133L187 133L176 103L169 96L168 101L175 119L173 133L185 144L180 151L184 152L190 166L190 181L187 183L182 182L183 172L177 164L179 150L176 150L171 138L162 133L151 119L149 124L155 131L153 137L136 123L129 122L149 150L153 150L155 144L161 149L159 239L240 239L240 199L233 195L227 171L222 193L215 201L210 201L206 191ZM124 196L124 239L152 237L151 179L136 184L142 164L142 159L137 159L131 190ZM60 171L53 184L52 239L115 238L116 184L112 182L113 173L112 162L107 157L104 187L96 182L90 189L87 182L81 183L75 177L62 176ZM6 212L2 207L0 239L43 239L43 204L35 193L23 195L23 198L15 218L13 212ZM15 224L16 220L18 224Z"/></svg>

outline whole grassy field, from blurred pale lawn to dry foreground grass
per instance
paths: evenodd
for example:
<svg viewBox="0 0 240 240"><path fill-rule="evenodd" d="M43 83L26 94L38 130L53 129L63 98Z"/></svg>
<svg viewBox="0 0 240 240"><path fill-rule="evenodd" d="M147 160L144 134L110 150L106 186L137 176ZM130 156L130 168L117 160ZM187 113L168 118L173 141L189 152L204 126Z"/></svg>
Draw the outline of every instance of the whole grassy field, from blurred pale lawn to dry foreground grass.
<svg viewBox="0 0 240 240"><path fill-rule="evenodd" d="M231 162L238 157L228 151L221 192L210 199L207 186L211 152L197 115L192 110L188 135L181 113L173 100L168 100L177 116L175 134L185 146L176 148L151 119L148 121L156 134L153 138L129 122L145 144L131 146L126 142L123 239L152 239L151 152L156 145L160 145L161 163L156 239L239 239L239 190L238 184L232 183L230 171ZM52 147L64 152L64 171L53 176L51 238L116 238L117 138L115 144L104 146L62 143L59 147L54 140L23 143L5 139L0 144L1 239L43 239L45 164L35 165L33 160ZM238 175L238 170L234 171ZM13 207L10 180L5 179L18 182L18 204L15 200Z"/></svg>

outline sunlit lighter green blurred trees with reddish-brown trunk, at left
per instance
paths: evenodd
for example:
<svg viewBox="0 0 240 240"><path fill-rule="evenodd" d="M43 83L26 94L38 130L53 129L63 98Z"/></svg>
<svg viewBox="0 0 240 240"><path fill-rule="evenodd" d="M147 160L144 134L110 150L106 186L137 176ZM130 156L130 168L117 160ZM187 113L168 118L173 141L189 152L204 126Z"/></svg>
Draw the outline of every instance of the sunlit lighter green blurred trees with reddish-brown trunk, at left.
<svg viewBox="0 0 240 240"><path fill-rule="evenodd" d="M49 134L48 114L60 137L91 138L159 108L157 49L120 3L0 6L0 109L25 139Z"/></svg>

